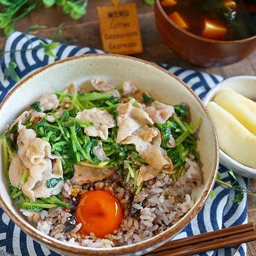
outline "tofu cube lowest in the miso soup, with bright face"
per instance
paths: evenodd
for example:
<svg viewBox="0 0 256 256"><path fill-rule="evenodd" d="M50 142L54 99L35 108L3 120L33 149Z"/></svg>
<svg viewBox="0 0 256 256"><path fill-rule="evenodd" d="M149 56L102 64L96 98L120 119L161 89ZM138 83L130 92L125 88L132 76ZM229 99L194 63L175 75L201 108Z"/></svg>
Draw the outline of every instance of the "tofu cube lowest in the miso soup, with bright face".
<svg viewBox="0 0 256 256"><path fill-rule="evenodd" d="M227 32L227 28L214 23L211 20L204 20L204 31L202 33L202 37L220 40L223 36L225 36Z"/></svg>

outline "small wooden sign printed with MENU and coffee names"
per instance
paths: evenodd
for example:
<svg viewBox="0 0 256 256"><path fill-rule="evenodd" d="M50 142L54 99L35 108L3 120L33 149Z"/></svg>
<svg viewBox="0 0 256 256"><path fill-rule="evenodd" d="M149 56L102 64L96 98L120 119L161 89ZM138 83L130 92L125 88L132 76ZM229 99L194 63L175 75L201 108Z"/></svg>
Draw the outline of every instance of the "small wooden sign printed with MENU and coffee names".
<svg viewBox="0 0 256 256"><path fill-rule="evenodd" d="M117 54L143 52L136 4L97 7L103 50Z"/></svg>

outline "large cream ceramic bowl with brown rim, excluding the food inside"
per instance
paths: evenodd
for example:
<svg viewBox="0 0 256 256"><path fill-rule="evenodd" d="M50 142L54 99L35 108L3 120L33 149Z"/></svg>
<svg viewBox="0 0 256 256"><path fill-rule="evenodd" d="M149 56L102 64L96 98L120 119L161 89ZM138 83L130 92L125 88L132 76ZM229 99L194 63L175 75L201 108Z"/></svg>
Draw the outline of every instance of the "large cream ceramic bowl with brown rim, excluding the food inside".
<svg viewBox="0 0 256 256"><path fill-rule="evenodd" d="M176 224L166 231L136 244L116 248L86 248L74 246L42 234L26 221L19 209L14 206L8 191L6 178L0 170L2 181L0 205L11 220L30 235L34 240L48 248L68 256L78 255L141 255L164 244L188 224L200 211L214 185L218 170L218 142L212 120L201 100L194 92L173 74L152 64L136 58L114 54L76 56L60 60L34 72L22 80L0 105L0 133L6 125L27 109L31 102L42 93L52 91L52 86L64 90L71 82L87 86L91 78L104 78L114 85L125 80L133 80L142 91L168 104L186 102L190 107L192 122L202 117L196 136L200 167L202 168L202 185L192 192L194 206Z"/></svg>

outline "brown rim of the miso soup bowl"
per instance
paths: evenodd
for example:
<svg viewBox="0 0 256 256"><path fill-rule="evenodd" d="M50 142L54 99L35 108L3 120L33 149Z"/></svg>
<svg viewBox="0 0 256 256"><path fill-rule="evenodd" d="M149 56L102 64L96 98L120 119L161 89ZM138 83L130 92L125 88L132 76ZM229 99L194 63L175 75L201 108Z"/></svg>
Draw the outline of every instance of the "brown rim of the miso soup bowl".
<svg viewBox="0 0 256 256"><path fill-rule="evenodd" d="M155 4L157 5L158 9L160 10L160 12L162 13L162 15L164 16L164 18L166 18L166 20L168 20L168 22L170 24L172 24L172 26L176 27L178 30L180 30L181 32L184 32L185 34L187 34L188 36L192 36L195 39L201 40L201 41L205 41L205 42L209 42L209 43L214 43L214 44L242 44L244 42L247 41L251 41L256 39L256 35L255 36L251 36L248 38L244 38L244 39L240 39L240 40L230 40L230 41L222 41L222 40L214 40L214 39L208 39L208 38L204 38L202 36L198 36L196 34L190 33L185 29L180 28L178 25L176 25L166 14L166 12L164 11L164 9L162 8L162 5L160 4L160 0L155 0Z"/></svg>

